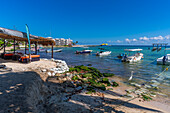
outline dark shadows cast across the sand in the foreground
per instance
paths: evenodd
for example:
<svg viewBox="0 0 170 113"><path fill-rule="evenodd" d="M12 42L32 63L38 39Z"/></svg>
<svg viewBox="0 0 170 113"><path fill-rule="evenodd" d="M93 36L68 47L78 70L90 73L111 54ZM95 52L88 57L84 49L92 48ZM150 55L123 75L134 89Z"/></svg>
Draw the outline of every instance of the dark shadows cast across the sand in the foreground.
<svg viewBox="0 0 170 113"><path fill-rule="evenodd" d="M0 113L27 113L33 112L33 108L31 105L28 105L26 102L27 93L25 91L26 87L31 84L31 81L34 81L36 78L40 78L40 75L36 72L8 72L0 74ZM63 87L61 90L69 87L64 85L64 83L54 83L49 81L50 78L47 78L47 82L44 82L47 86L54 86L56 88L58 86ZM58 90L60 90L58 88ZM61 91L62 92L62 91ZM106 91L106 93L114 96L121 96L118 93L113 91ZM53 92L50 94L58 95L58 92ZM98 101L99 100L99 101ZM93 97L88 95L81 95L80 93L75 93L70 97L70 101L57 103L56 105L43 105L44 108L47 108L47 113L61 113L68 112L71 113L75 111L77 113L84 112L116 112L116 113L124 113L123 111L118 111L110 106L103 105L103 101L105 103L109 103L111 105L119 105L123 103L122 106L128 108L135 108L140 110L145 110L148 112L160 112L155 109L150 109L147 107L142 107L136 104L132 104L129 102L125 102L119 99L111 99L105 98L102 100L101 97ZM83 104L82 104L83 103ZM64 105L64 106L63 106ZM85 106L84 106L85 105ZM51 107L51 108L50 108ZM89 109L96 108L96 109ZM102 110L100 109L102 107ZM74 109L74 110L73 110Z"/></svg>

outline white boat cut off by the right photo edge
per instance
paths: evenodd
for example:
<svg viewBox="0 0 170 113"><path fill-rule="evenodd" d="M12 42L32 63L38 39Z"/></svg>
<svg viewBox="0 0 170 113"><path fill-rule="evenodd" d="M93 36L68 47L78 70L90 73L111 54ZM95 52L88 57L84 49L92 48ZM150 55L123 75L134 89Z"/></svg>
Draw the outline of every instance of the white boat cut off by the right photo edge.
<svg viewBox="0 0 170 113"><path fill-rule="evenodd" d="M170 65L170 54L167 54L165 56L162 56L157 59L157 64L161 65Z"/></svg>

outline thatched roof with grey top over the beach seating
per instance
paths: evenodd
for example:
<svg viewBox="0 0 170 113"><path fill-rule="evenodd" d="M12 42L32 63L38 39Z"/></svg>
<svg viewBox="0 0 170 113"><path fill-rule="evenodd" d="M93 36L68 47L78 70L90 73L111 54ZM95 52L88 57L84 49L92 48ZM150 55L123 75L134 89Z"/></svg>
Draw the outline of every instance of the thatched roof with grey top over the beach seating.
<svg viewBox="0 0 170 113"><path fill-rule="evenodd" d="M11 30L11 29L6 29L0 27L0 38L3 39L11 39L11 40L17 40L17 41L27 41L27 33L17 31L17 30ZM31 43L38 42L38 44L42 45L52 45L55 44L55 41L52 39L40 37L40 36L35 36L30 34L30 41Z"/></svg>

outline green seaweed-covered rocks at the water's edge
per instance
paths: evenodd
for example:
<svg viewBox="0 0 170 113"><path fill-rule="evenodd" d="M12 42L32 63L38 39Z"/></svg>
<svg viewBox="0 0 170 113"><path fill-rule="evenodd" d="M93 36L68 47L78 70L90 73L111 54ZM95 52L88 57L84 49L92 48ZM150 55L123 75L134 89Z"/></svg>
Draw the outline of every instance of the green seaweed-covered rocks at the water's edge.
<svg viewBox="0 0 170 113"><path fill-rule="evenodd" d="M87 93L91 94L95 92L95 89L106 90L107 86L117 87L119 86L116 82L110 82L107 77L114 76L114 74L110 73L101 73L98 69L94 67L87 66L75 66L69 69L69 72L78 73L77 75L72 77L72 80L78 81L81 85L87 85Z"/></svg>

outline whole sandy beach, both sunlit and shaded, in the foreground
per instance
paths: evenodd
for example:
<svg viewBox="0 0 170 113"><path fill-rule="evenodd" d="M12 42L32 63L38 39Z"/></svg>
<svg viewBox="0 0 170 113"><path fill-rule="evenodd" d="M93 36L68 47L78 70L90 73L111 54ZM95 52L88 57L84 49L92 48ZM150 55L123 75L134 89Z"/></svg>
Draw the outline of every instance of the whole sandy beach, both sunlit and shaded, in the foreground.
<svg viewBox="0 0 170 113"><path fill-rule="evenodd" d="M37 62L22 64L11 60L2 60L2 64L12 68L9 72L0 72L1 111L4 112L120 112L155 113L169 111L169 98L157 95L151 101L132 99L122 95L133 86L124 84L124 79L114 76L119 87L113 90L97 90L86 94L85 90L69 86L65 78L57 80L43 69L57 66L53 60L41 59ZM60 65L60 64L58 64ZM60 76L57 74L57 76ZM67 99L67 95L70 95ZM103 96L104 94L104 96ZM132 100L131 100L132 99Z"/></svg>

